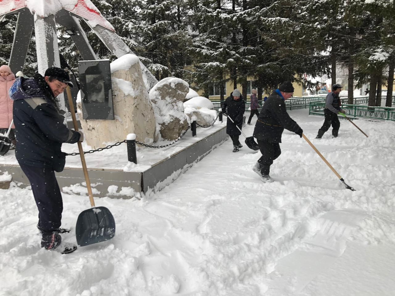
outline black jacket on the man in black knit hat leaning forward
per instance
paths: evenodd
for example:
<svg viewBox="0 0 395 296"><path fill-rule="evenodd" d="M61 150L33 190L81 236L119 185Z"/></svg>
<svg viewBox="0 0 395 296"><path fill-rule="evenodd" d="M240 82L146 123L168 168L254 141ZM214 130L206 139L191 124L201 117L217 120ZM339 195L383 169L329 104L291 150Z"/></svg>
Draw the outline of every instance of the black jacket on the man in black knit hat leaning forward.
<svg viewBox="0 0 395 296"><path fill-rule="evenodd" d="M294 133L300 129L297 123L288 115L284 97L282 97L279 90L276 90L263 104L255 124L254 137L271 143L281 143L281 135L284 128Z"/></svg>

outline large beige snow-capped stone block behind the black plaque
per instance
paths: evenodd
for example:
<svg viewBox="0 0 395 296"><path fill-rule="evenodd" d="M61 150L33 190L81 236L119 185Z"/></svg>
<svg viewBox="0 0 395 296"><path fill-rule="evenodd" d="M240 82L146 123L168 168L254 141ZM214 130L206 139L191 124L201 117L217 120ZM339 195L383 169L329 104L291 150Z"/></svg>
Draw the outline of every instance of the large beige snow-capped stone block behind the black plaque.
<svg viewBox="0 0 395 296"><path fill-rule="evenodd" d="M97 149L108 142L123 141L129 133L136 134L139 142L154 142L155 115L139 58L125 54L112 62L110 67L115 120L82 119L81 98L77 99L77 112L87 144Z"/></svg>

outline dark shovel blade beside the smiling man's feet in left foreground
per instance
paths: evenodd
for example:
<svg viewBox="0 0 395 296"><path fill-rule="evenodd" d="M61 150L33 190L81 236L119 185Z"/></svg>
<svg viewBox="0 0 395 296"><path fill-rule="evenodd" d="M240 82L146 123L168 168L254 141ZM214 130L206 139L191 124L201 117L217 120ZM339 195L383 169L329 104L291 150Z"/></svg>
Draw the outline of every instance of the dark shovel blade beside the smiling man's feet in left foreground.
<svg viewBox="0 0 395 296"><path fill-rule="evenodd" d="M91 245L115 236L115 220L109 209L97 206L79 214L75 225L77 245Z"/></svg>

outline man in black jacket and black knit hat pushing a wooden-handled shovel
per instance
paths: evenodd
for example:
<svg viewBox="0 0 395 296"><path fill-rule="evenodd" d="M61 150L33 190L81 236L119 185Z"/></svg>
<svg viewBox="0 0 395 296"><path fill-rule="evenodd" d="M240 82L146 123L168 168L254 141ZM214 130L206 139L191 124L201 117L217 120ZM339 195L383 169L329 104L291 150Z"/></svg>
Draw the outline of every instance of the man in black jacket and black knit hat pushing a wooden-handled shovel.
<svg viewBox="0 0 395 296"><path fill-rule="evenodd" d="M292 120L285 108L284 101L292 95L292 83L286 81L281 84L267 98L256 121L254 137L258 140L262 157L258 159L252 170L261 176L263 182L273 182L269 176L270 166L281 154L279 143L284 128L302 137L303 130Z"/></svg>

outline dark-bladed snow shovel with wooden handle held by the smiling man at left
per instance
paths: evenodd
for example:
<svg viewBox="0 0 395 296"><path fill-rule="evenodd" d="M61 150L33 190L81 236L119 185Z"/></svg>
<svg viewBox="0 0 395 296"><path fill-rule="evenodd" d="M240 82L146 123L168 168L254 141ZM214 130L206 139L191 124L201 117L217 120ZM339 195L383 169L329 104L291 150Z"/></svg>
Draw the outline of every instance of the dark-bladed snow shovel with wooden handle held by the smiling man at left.
<svg viewBox="0 0 395 296"><path fill-rule="evenodd" d="M72 110L71 117L73 118L74 129L75 131L78 131L77 120L75 119L75 113L73 112L74 105L71 97L70 86L67 86L66 92L70 110ZM92 208L79 214L75 225L77 244L84 246L111 240L111 238L115 236L115 220L109 209L103 206L95 206L81 142L78 142L78 150L79 156L81 157L82 168L84 170L85 182L87 183L90 205L92 206Z"/></svg>

